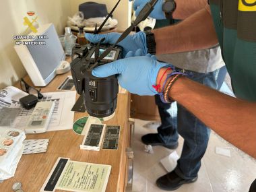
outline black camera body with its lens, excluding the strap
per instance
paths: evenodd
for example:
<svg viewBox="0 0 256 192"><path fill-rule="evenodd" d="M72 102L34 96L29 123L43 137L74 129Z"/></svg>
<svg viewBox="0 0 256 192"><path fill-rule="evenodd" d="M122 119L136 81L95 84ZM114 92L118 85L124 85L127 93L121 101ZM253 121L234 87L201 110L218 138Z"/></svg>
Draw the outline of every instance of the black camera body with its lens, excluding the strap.
<svg viewBox="0 0 256 192"><path fill-rule="evenodd" d="M99 55L109 46L109 44L100 45ZM94 44L74 46L72 55L77 55L77 57L72 59L70 64L71 74L77 93L84 94L84 104L88 114L93 117L108 117L115 112L117 107L119 86L117 75L103 78L92 75L96 49L97 46ZM121 59L121 53L121 47L115 46L106 57L98 61L98 66Z"/></svg>

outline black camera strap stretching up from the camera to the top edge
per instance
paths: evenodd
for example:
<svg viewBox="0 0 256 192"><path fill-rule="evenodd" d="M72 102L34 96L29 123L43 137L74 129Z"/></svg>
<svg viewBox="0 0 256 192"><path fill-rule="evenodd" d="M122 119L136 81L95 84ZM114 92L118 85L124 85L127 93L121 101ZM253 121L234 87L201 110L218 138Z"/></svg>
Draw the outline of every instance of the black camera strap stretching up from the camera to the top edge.
<svg viewBox="0 0 256 192"><path fill-rule="evenodd" d="M120 1L120 0L119 0ZM119 3L118 1L118 3ZM94 63L94 65L92 65L90 67L90 69L94 69L94 67L98 66L98 61L100 61L101 59L103 59L104 57L106 57L106 55L108 55L108 53L110 53L110 51L113 50L113 48L115 48L115 46L121 42L125 37L127 37L127 35L130 34L130 32L133 30L133 28L135 26L137 26L137 24L139 24L140 22L142 22L143 20L146 20L146 18L148 18L148 15L150 15L151 11L154 9L154 5L156 5L158 0L151 0L150 2L146 3L146 5L141 9L141 11L139 12L139 15L137 15L137 18L135 19L135 21L133 22L133 24L131 24L131 26L129 26L129 28L127 28L125 30L125 32L123 32L121 34L121 36L119 37L119 39L115 42L115 44L113 44L112 46L109 46L108 49L106 49L106 51L104 51L100 57L98 57L96 63ZM118 5L117 3L117 5ZM117 5L115 5L115 7L117 7ZM114 7L114 9L115 9ZM113 11L111 11L113 12ZM108 17L109 18L109 17ZM105 20L106 21L106 20ZM104 21L104 22L105 22ZM101 25L102 26L102 25ZM100 26L100 27L101 27ZM99 28L101 29L101 28ZM98 32L98 31L97 31ZM102 40L100 40L101 42Z"/></svg>

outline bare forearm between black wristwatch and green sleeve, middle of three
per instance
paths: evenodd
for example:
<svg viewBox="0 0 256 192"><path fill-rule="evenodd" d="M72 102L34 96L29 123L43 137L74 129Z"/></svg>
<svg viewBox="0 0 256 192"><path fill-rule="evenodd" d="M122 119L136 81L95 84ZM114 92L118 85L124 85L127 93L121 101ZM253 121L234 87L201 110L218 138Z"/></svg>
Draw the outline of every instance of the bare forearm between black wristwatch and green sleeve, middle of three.
<svg viewBox="0 0 256 192"><path fill-rule="evenodd" d="M206 49L218 43L212 16L205 8L177 25L152 32L157 55Z"/></svg>

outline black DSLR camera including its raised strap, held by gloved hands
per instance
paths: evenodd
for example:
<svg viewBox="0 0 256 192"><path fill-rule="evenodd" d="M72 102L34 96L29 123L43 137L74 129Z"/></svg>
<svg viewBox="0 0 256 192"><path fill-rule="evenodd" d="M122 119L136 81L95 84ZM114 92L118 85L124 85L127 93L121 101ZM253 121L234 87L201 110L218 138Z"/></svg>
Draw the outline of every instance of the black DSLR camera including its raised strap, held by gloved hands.
<svg viewBox="0 0 256 192"><path fill-rule="evenodd" d="M106 19L97 29L95 25L94 34L98 34L108 18L112 15L117 5L108 13ZM92 75L92 69L99 65L104 65L117 59L121 59L122 49L117 46L141 21L148 18L148 15L154 9L158 0L150 0L146 3L137 15L135 21L119 36L115 44L88 44L87 46L75 46L72 55L77 55L75 59L72 56L71 73L78 94L84 94L84 104L89 115L93 117L108 117L115 112L117 107L117 93L119 86L117 84L117 75L98 78Z"/></svg>

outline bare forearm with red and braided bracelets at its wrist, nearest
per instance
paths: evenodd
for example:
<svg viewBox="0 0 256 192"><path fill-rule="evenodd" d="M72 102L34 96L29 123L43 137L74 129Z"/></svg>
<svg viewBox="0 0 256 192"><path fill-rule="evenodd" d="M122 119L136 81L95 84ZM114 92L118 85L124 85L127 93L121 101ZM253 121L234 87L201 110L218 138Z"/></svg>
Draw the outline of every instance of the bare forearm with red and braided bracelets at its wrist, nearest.
<svg viewBox="0 0 256 192"><path fill-rule="evenodd" d="M221 137L256 158L256 103L232 98L185 77L172 87L177 100Z"/></svg>

